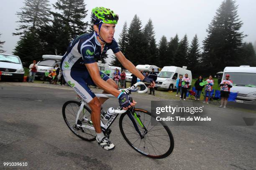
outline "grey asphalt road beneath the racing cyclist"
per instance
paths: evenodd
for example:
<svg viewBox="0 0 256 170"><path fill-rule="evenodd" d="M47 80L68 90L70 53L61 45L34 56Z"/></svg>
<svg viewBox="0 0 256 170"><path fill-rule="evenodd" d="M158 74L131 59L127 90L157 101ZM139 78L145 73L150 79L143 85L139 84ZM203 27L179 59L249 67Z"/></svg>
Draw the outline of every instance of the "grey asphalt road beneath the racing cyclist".
<svg viewBox="0 0 256 170"><path fill-rule="evenodd" d="M170 127L174 151L165 159L154 160L138 154L125 142L118 120L110 136L115 150L105 151L96 142L76 137L61 114L64 102L75 98L72 90L0 84L0 169L17 168L6 168L3 162L28 162L27 167L18 167L21 170L256 169L255 124L222 123L234 114L255 117L253 112L208 105L207 113L220 121L207 126ZM138 107L151 108L148 95L137 94L134 99ZM109 99L104 107L116 104L116 99Z"/></svg>

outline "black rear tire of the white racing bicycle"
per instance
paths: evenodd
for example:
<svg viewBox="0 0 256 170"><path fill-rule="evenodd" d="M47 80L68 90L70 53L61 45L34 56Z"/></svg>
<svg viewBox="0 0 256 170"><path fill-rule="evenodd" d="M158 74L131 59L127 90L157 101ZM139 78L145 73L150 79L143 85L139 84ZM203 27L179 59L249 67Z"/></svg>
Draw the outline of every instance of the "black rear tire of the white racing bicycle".
<svg viewBox="0 0 256 170"><path fill-rule="evenodd" d="M73 106L71 105L70 108L72 108L72 111L74 111L73 113L72 113L72 111L69 111L69 110L67 109L67 106L69 106L69 104L73 104L73 106L76 107L76 109L75 109L75 111L74 111ZM65 102L65 103L63 104L63 107L62 107L62 115L63 115L64 121L65 121L65 123L67 124L67 126L69 127L69 129L70 129L77 137L81 138L82 140L86 140L86 141L90 141L90 142L91 142L91 141L94 141L94 140L96 140L96 138L95 138L95 137L96 137L96 132L95 132L95 130L91 130L91 131L92 131L92 134L89 134L89 132L90 132L89 130L90 130L90 129L82 128L82 127L78 128L79 130L74 129L74 126L75 126L75 125L74 125L74 124L71 124L71 123L68 121L68 119L67 119L67 115L66 115L66 114L68 114L68 113L66 112L66 110L72 113L72 117L69 116L69 118L73 118L73 119L71 119L71 120L72 120L73 122L75 122L76 117L77 117L77 112L78 112L78 110L79 110L79 108L80 108L79 104L80 104L79 101L72 101L72 100L67 101L67 102ZM84 109L88 112L87 114L91 114L91 109L90 109L89 107L84 106ZM89 119L89 117L88 117L87 119ZM81 121L80 121L80 122L81 122ZM81 124L83 124L83 123L86 123L86 122L81 122ZM92 125L92 126L93 126L93 125ZM82 130L83 130L84 132L82 132ZM79 131L81 131L82 133L81 133L81 134L78 134ZM93 133L94 133L94 134L93 134ZM86 137L87 135L90 136L91 138Z"/></svg>

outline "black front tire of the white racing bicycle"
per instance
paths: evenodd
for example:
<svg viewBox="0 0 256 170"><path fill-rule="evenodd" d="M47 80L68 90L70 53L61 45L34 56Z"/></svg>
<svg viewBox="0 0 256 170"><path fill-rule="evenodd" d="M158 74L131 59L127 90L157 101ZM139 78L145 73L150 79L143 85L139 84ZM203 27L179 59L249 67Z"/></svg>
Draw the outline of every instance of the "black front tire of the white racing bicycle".
<svg viewBox="0 0 256 170"><path fill-rule="evenodd" d="M141 122L145 125L145 127L146 126L148 126L149 127L149 124L150 124L150 122L151 122L151 120L150 120L150 122L148 122L148 124L146 124L146 122L145 122L145 120L143 120L143 116L144 116L144 119L145 119L145 115L147 114L149 117L150 117L150 119L151 119L151 117L153 117L152 115L151 115L151 113L150 112L148 112L148 111L146 111L146 110L144 110L144 109L134 109L134 111L138 114L138 112L141 112L141 113L143 113L143 114L140 114L140 116L141 116ZM162 153L162 154L160 154L160 155L157 155L157 154L155 154L155 155L151 155L150 154L150 152L149 152L149 150L148 150L148 152L149 153L146 153L145 152L145 144L146 144L146 137L148 136L148 134L149 134L149 132L151 132L152 133L152 131L154 131L154 130L152 130L151 131L151 129L152 128L154 128L154 127L152 127L151 129L150 129L150 131L148 131L148 134L146 134L145 135L145 137L143 138L144 139L144 151L142 151L139 147L140 147L140 144L141 144L141 142L140 142L140 144L136 147L135 146L135 142L133 142L133 141L131 141L133 138L131 138L131 139L128 139L128 137L127 137L127 134L132 134L132 135L135 135L136 133L137 133L137 135L138 135L138 132L136 132L136 129L134 128L134 126L133 126L133 124L131 123L130 125L131 125L131 129L134 129L134 134L133 134L133 132L132 131L129 131L129 130L127 130L127 129L125 129L124 128L124 126L126 127L126 123L129 123L129 121L128 120L130 120L130 122L132 122L131 121L131 119L129 119L129 117L128 117L128 114L129 112L126 112L126 113L124 113L124 114L122 114L121 116L120 116L120 119L119 119L119 128L120 128L120 131L121 131L121 134L123 135L123 138L125 139L125 141L128 143L128 145L130 145L134 150L136 150L137 152L139 152L140 154L142 154L142 155L144 155L144 156L147 156L147 157L150 157L150 158L154 158L154 159L161 159L161 158L164 158L164 157L167 157L167 156L169 156L171 153L172 153L172 151L173 151L173 149L174 149L174 138L173 138L173 136L172 136L172 132L171 132L171 130L169 129L169 127L168 126L166 126L165 124L164 124L164 122L160 122L159 121L159 123L161 124L161 127L163 127L163 129L166 131L166 135L160 135L160 133L158 133L159 134L159 136L166 136L166 139L169 139L169 147L168 147L168 149L166 149L166 151L164 151L164 153ZM125 117L126 116L126 117ZM154 117L155 118L155 117ZM126 122L127 121L127 122ZM139 127L139 129L140 129L140 131L141 131L141 127L140 127L140 125L137 123L137 121L135 120L135 122L136 122L136 124L138 125L138 127ZM129 127L129 126L128 126ZM159 126L158 126L159 127ZM149 128L148 128L149 129ZM125 134L125 131L128 131L129 133L127 133L127 134ZM132 133L130 133L130 132L132 132ZM155 132L156 133L156 132ZM150 134L150 135L152 135L152 134ZM136 135L135 135L136 136ZM156 143L158 143L157 145L161 145L161 142L159 142L159 140L160 139L163 139L163 137L156 137L157 138L157 142ZM138 139L137 139L138 138ZM136 136L135 137L135 139L134 140L139 140L140 139L140 136ZM141 139L141 141L143 140L143 139ZM149 142L148 142L149 141ZM148 139L148 143L151 143L151 145L152 145L152 143L153 142L155 142L155 141L153 141L153 140L149 140ZM168 142L167 142L168 143ZM143 144L142 144L143 145ZM156 147L154 147L153 145L152 145L152 148L153 148L153 150L154 150L154 152L156 153ZM155 150L155 149L156 150ZM157 151L159 151L159 150L157 150Z"/></svg>

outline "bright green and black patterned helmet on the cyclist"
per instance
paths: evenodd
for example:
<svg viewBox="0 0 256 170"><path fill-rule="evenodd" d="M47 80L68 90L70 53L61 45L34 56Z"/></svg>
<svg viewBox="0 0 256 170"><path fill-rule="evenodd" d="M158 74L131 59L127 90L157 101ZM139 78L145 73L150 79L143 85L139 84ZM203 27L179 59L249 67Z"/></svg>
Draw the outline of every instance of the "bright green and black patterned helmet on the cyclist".
<svg viewBox="0 0 256 170"><path fill-rule="evenodd" d="M106 23L106 24L117 24L118 15L113 10L104 7L96 7L92 9L92 20L93 24Z"/></svg>

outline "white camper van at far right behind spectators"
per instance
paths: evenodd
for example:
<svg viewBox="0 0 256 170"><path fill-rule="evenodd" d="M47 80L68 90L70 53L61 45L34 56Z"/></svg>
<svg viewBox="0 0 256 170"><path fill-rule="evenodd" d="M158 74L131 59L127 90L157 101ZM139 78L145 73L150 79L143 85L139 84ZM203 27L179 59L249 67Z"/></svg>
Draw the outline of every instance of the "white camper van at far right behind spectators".
<svg viewBox="0 0 256 170"><path fill-rule="evenodd" d="M238 93L236 97L238 102L256 101L256 67L225 67L222 80L225 79L226 74L229 74L230 80L233 81L234 85L230 88L230 92Z"/></svg>

